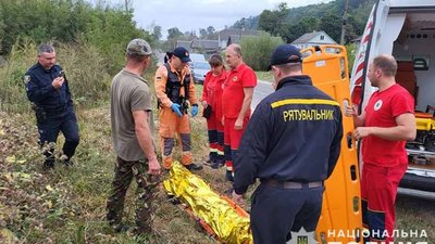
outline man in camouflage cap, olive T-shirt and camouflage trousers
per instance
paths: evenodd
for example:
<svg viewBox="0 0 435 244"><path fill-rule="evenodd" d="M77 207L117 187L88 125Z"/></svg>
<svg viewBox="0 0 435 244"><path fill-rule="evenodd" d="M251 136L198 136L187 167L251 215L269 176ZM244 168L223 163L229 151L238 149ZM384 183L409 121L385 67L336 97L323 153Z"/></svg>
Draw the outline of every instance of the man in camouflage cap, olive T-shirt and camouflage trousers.
<svg viewBox="0 0 435 244"><path fill-rule="evenodd" d="M153 119L151 95L141 74L151 63L151 48L142 39L127 46L127 63L113 78L111 87L111 123L113 147L117 158L112 191L108 198L107 219L115 230L122 223L124 200L135 178L138 184L136 233L151 233L152 201L158 191L160 165L152 141Z"/></svg>

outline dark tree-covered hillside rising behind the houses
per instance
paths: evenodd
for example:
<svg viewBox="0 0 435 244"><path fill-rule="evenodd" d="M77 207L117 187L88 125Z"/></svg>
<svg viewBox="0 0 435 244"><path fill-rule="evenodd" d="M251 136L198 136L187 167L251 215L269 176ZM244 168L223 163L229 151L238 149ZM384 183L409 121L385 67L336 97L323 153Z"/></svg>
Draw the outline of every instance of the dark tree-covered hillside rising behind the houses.
<svg viewBox="0 0 435 244"><path fill-rule="evenodd" d="M275 10L264 10L258 16L237 21L234 27L262 29L272 36L282 37L288 43L306 33L324 30L339 42L345 1L335 0L299 8L293 8L291 2L283 1ZM375 2L376 0L349 0L346 43L362 35L366 18Z"/></svg>

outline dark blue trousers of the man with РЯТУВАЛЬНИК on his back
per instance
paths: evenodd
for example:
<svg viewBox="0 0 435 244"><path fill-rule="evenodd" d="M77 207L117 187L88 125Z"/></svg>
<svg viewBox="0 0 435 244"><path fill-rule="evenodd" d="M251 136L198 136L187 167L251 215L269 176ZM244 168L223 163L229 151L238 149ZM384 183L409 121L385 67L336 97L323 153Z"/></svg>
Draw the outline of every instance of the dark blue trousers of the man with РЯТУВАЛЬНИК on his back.
<svg viewBox="0 0 435 244"><path fill-rule="evenodd" d="M261 183L252 194L251 231L254 244L285 244L291 231L315 230L324 187L284 189Z"/></svg>

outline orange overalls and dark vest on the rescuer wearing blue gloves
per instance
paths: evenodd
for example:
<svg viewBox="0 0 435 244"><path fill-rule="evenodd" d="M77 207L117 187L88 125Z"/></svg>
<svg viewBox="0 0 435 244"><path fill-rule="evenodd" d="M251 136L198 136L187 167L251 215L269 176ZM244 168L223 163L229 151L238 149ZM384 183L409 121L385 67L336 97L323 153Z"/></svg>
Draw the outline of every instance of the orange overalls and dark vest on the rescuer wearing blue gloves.
<svg viewBox="0 0 435 244"><path fill-rule="evenodd" d="M171 66L171 62L167 62L167 64L157 69L154 85L159 101L159 134L163 167L170 169L172 166L175 132L178 133L177 140L182 150L182 164L185 166L190 165L192 158L190 153L189 116L187 112L182 112L183 117L178 117L171 110L173 103L182 105L182 102L185 102L184 100L188 100L190 105L197 104L190 69L185 66L181 72L177 72Z"/></svg>

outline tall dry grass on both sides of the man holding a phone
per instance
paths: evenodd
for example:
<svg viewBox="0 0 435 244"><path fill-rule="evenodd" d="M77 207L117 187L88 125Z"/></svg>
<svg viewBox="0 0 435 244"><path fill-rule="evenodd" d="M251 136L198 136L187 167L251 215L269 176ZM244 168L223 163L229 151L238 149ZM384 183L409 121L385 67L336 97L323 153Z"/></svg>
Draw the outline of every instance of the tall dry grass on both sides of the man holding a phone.
<svg viewBox="0 0 435 244"><path fill-rule="evenodd" d="M107 59L96 47L87 43L59 43L54 48L57 62L66 73L76 106L91 107L109 99L112 70L109 70ZM32 40L18 40L13 46L7 63L0 67L1 111L29 111L23 77L36 62L37 47Z"/></svg>

